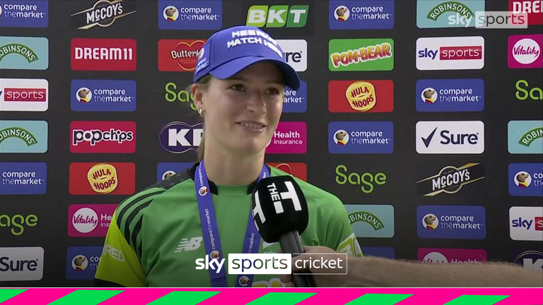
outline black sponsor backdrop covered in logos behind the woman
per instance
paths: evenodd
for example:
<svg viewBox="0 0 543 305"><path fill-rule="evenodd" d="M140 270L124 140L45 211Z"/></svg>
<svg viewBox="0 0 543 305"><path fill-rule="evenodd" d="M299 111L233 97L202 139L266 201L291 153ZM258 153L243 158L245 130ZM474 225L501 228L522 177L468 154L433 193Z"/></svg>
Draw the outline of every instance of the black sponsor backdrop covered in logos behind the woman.
<svg viewBox="0 0 543 305"><path fill-rule="evenodd" d="M338 196L366 255L542 270L542 1L0 0L0 286L91 286L124 259L112 213L196 161L185 89L233 25L303 80L266 161Z"/></svg>

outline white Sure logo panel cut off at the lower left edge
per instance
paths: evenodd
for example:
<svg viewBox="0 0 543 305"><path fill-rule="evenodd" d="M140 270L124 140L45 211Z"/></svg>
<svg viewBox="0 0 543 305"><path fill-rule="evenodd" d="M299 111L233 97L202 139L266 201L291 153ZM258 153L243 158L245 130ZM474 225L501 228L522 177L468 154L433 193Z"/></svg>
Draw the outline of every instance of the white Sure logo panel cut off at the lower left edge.
<svg viewBox="0 0 543 305"><path fill-rule="evenodd" d="M34 281L43 277L43 248L0 248L0 282Z"/></svg>

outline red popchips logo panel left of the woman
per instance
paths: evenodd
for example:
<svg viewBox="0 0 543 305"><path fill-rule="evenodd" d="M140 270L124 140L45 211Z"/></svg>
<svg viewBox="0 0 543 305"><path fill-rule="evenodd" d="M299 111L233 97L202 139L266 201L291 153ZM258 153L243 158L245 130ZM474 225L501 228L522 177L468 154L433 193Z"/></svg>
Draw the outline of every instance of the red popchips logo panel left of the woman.
<svg viewBox="0 0 543 305"><path fill-rule="evenodd" d="M74 153L134 153L136 123L133 121L73 121L70 151Z"/></svg>

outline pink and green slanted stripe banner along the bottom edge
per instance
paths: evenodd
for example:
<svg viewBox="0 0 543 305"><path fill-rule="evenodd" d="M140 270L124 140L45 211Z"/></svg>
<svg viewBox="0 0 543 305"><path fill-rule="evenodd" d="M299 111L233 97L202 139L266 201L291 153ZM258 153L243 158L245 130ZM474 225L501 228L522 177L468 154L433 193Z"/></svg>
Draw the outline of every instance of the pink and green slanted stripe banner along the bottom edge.
<svg viewBox="0 0 543 305"><path fill-rule="evenodd" d="M543 305L543 289L0 289L0 305Z"/></svg>

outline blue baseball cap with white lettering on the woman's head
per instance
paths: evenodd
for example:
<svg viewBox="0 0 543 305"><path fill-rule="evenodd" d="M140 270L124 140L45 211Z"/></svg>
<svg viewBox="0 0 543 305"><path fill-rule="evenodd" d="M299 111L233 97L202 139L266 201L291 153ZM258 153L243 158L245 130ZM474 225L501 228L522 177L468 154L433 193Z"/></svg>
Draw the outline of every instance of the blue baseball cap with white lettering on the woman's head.
<svg viewBox="0 0 543 305"><path fill-rule="evenodd" d="M207 73L218 79L229 78L259 61L272 61L283 73L288 88L300 88L298 73L285 62L279 44L267 32L250 26L227 28L209 37L198 53L194 83Z"/></svg>

